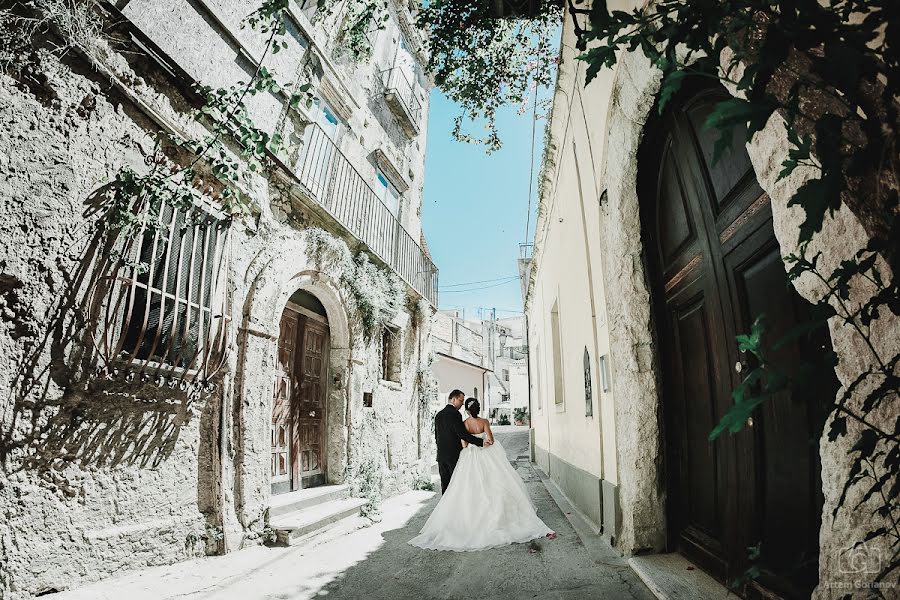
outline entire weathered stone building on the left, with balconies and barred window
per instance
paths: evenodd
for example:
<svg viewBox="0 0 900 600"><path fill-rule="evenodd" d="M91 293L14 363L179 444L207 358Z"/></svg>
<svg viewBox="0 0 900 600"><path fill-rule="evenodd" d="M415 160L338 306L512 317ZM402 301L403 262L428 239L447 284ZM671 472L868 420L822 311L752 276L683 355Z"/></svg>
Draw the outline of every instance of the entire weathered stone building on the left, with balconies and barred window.
<svg viewBox="0 0 900 600"><path fill-rule="evenodd" d="M420 429L435 398L420 379L437 269L420 211L431 83L409 7L388 3L360 60L343 47L352 3L323 17L290 2L277 54L242 27L254 8L97 3L85 22L101 37L56 52L71 31L51 19L0 75L0 597L259 544L279 492L392 494L430 467ZM122 283L100 241L98 190L123 166L146 172L160 132L202 136L193 86L249 81L260 61L282 84L311 83L315 101L247 98L255 124L285 140L241 184L250 214L169 207L173 223L179 211L205 220L173 225L168 241L157 233L150 279ZM171 258L173 240L190 259ZM154 291L166 265L175 287ZM143 316L116 312L107 294L119 284ZM167 301L187 307L185 323L200 315L200 333L160 334L179 318ZM138 334L130 358L104 346ZM202 368L180 368L198 338ZM314 408L306 425L296 402ZM354 480L366 470L378 490Z"/></svg>

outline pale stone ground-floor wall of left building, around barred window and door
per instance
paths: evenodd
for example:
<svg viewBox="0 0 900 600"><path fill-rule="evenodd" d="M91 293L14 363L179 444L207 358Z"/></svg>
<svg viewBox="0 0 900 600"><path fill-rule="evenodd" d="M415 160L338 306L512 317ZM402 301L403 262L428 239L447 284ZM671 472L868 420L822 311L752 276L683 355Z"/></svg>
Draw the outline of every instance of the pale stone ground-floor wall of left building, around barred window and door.
<svg viewBox="0 0 900 600"><path fill-rule="evenodd" d="M401 311L402 378L381 381L378 340L366 341L354 299L310 256L304 230L358 247L284 178L252 181L255 215L232 228L232 326L215 391L191 400L95 377L84 320L99 254L92 194L124 165L146 168L161 120L196 125L152 63L139 75L108 51L104 65L75 52L24 58L17 76L0 75L0 597L260 543L278 320L297 289L328 309L329 480L378 456L385 493L408 489L433 455L415 383L429 322Z"/></svg>

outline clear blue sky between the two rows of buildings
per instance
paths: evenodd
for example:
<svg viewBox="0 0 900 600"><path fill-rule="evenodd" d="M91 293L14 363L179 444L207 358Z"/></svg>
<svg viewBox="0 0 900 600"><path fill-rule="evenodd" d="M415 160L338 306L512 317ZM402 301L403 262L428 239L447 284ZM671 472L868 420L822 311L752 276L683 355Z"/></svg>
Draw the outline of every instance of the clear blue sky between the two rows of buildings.
<svg viewBox="0 0 900 600"><path fill-rule="evenodd" d="M541 89L539 98L549 93ZM522 310L518 279L488 281L518 275L519 243L525 238L532 113L519 115L517 109L505 107L498 113L503 147L488 155L483 146L453 139L450 132L459 109L439 90L431 94L422 227L440 269L440 308L464 308L467 318L478 318L480 307L496 307L498 318ZM535 175L543 137L544 120L539 119ZM529 238L537 214L535 187ZM485 283L459 285L468 282Z"/></svg>

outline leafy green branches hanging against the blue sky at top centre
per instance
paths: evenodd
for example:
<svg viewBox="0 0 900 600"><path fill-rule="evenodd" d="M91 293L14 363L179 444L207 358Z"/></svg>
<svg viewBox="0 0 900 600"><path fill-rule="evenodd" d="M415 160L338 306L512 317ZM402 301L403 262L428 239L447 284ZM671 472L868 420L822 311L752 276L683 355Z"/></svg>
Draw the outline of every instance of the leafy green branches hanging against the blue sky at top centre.
<svg viewBox="0 0 900 600"><path fill-rule="evenodd" d="M493 2L434 0L417 15L418 26L428 31L428 68L435 83L462 109L454 119L453 137L483 144L489 153L502 145L497 110L525 104L538 87L549 87L557 62L562 2L529 3L538 7L533 14L513 4L523 3L511 3L498 13ZM519 15L530 18L515 18ZM483 124L486 133L464 131L466 122Z"/></svg>

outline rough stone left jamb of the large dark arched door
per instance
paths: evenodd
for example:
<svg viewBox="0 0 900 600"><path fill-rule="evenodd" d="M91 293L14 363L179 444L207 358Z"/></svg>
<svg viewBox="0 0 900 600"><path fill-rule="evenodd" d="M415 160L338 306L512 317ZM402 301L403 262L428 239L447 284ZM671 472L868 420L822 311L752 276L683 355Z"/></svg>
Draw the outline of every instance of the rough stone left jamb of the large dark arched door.
<svg viewBox="0 0 900 600"><path fill-rule="evenodd" d="M600 236L604 285L607 298L619 299L607 303L607 317L616 374L617 544L625 553L665 545L658 361L637 195L638 149L660 79L642 54L623 54L612 85L601 175L607 191Z"/></svg>

